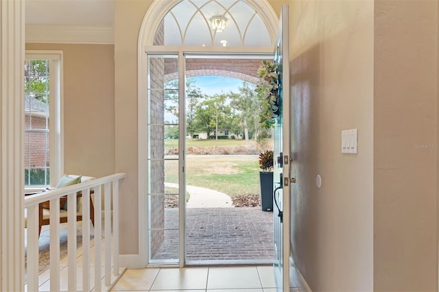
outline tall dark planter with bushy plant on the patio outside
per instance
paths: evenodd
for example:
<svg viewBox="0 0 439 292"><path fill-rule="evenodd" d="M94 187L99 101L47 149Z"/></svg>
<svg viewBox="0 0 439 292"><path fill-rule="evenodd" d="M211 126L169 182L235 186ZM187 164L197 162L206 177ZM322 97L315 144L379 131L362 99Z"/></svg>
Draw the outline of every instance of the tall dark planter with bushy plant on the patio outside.
<svg viewBox="0 0 439 292"><path fill-rule="evenodd" d="M273 210L273 151L259 154L259 182L261 186L261 207L263 211Z"/></svg>

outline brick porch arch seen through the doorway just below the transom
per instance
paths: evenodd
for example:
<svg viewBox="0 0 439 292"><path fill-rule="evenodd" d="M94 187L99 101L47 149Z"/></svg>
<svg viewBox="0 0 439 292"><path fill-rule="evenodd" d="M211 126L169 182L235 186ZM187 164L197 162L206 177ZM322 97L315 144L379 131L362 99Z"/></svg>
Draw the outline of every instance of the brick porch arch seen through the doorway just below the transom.
<svg viewBox="0 0 439 292"><path fill-rule="evenodd" d="M261 60L257 59L191 59L186 60L187 77L217 76L230 77L256 84L259 77L257 70ZM165 82L178 79L174 62L165 60Z"/></svg>

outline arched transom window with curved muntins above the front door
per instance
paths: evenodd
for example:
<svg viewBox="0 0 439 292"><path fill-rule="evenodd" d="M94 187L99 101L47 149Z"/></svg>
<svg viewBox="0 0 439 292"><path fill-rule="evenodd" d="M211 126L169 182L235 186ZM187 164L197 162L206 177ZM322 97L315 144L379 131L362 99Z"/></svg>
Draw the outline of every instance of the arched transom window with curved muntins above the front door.
<svg viewBox="0 0 439 292"><path fill-rule="evenodd" d="M261 16L244 0L183 0L158 26L154 45L272 46Z"/></svg>

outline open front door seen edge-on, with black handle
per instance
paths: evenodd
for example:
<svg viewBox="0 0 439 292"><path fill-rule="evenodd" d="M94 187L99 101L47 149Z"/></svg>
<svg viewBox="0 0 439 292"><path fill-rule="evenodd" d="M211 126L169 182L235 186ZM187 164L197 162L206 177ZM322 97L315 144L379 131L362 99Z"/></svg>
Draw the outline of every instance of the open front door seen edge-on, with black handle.
<svg viewBox="0 0 439 292"><path fill-rule="evenodd" d="M289 291L289 54L288 5L282 5L274 62L278 64L278 117L274 125L274 273L279 292Z"/></svg>

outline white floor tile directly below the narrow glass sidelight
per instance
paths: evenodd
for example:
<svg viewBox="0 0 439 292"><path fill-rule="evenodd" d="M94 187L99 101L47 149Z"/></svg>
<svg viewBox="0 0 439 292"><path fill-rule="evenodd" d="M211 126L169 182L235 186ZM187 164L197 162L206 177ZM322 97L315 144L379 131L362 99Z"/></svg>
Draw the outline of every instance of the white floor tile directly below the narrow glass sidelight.
<svg viewBox="0 0 439 292"><path fill-rule="evenodd" d="M206 289L208 268L160 269L151 290Z"/></svg>

